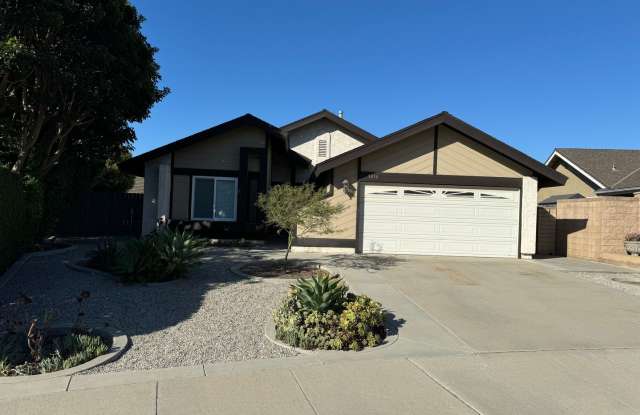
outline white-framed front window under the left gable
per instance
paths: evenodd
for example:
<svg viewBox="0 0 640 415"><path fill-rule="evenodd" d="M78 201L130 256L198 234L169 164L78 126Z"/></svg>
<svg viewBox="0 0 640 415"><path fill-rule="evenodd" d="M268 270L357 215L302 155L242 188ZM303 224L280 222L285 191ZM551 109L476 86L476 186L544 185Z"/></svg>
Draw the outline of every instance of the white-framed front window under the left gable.
<svg viewBox="0 0 640 415"><path fill-rule="evenodd" d="M195 176L192 183L191 218L235 221L238 179Z"/></svg>

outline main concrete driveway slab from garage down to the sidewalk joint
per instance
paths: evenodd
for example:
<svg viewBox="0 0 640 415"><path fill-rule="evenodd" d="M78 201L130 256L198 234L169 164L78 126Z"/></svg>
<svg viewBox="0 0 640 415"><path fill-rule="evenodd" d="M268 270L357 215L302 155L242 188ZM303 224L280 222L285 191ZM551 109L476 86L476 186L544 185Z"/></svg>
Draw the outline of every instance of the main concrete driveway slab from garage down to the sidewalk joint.
<svg viewBox="0 0 640 415"><path fill-rule="evenodd" d="M350 281L374 279L392 287L375 295L401 294L474 351L639 347L640 298L571 273L589 264L405 257L386 269L343 272ZM626 271L594 266L600 272Z"/></svg>

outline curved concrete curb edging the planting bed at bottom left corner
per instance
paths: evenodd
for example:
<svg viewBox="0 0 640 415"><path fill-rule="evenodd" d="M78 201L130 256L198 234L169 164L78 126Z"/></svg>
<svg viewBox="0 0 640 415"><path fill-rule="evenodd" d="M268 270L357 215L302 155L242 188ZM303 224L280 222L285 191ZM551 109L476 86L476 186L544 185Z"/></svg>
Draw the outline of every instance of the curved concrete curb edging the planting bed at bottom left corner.
<svg viewBox="0 0 640 415"><path fill-rule="evenodd" d="M55 327L50 329L51 332L69 332L71 327ZM27 383L27 382L36 382L39 380L46 380L52 378L58 378L63 376L71 376L76 373L93 369L97 366L102 366L106 363L113 362L117 360L124 354L129 346L129 336L120 332L109 332L105 330L93 330L93 334L103 337L111 337L112 344L107 353L96 357L95 359L89 360L79 366L72 367L70 369L59 370L57 372L45 373L42 375L31 375L31 376L10 376L10 377L0 377L0 385L7 384L16 384L16 383Z"/></svg>

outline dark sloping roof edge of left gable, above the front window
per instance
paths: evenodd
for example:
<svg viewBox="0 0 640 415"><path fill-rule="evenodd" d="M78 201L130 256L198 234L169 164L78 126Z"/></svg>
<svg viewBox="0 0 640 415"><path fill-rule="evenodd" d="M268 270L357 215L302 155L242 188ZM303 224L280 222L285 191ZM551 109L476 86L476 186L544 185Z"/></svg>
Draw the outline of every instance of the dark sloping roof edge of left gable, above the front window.
<svg viewBox="0 0 640 415"><path fill-rule="evenodd" d="M120 169L126 173L134 174L134 175L144 175L144 162L147 160L154 159L163 154L170 153L179 148L183 148L189 146L191 144L197 143L199 141L211 138L215 135L225 133L227 131L233 130L238 127L258 127L268 134L272 136L280 137L284 139L280 130L269 124L266 121L261 120L260 118L252 115L245 114L238 118L234 118L230 121L223 122L222 124L218 124L214 127L207 128L206 130L200 131L198 133L192 134L188 137L182 138L180 140L174 141L172 143L166 144L164 146L155 148L151 151L147 151L146 153L142 153L138 156L132 157L129 160L123 161L120 163Z"/></svg>

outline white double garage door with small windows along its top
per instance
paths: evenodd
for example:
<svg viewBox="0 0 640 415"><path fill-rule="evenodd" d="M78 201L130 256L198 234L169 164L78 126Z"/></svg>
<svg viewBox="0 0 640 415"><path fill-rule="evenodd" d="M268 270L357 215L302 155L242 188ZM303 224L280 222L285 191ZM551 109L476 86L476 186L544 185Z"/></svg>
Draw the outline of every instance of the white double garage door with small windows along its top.
<svg viewBox="0 0 640 415"><path fill-rule="evenodd" d="M366 185L362 251L517 257L518 190Z"/></svg>

